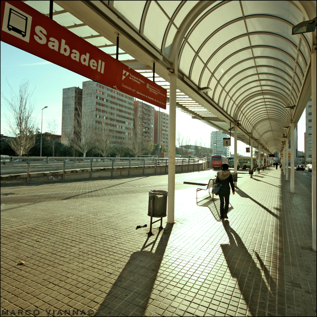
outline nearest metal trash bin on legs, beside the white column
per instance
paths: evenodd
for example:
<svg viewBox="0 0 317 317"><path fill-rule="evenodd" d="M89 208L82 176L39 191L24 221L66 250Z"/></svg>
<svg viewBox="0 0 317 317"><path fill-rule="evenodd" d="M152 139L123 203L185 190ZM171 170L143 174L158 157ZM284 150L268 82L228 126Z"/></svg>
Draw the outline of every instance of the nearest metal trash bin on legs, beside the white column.
<svg viewBox="0 0 317 317"><path fill-rule="evenodd" d="M159 226L159 230L163 229L163 217L166 217L166 209L167 209L167 191L149 191L149 207L147 211L147 215L151 217L150 222L150 231L147 233L148 235L153 235L152 233L152 223L156 223L161 221L161 225ZM159 220L153 221L152 218L161 218Z"/></svg>

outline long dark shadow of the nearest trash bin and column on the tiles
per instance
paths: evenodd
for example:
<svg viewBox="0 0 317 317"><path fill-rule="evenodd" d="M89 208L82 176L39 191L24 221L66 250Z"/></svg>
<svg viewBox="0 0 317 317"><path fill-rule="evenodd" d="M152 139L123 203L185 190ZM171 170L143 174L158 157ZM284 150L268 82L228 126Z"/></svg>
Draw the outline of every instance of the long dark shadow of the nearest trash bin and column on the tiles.
<svg viewBox="0 0 317 317"><path fill-rule="evenodd" d="M95 316L143 315L152 293L164 252L171 235L173 225L167 224L157 242L160 231L154 241L148 243L148 237L140 251L134 252L117 280L100 304ZM145 250L151 248L150 250Z"/></svg>

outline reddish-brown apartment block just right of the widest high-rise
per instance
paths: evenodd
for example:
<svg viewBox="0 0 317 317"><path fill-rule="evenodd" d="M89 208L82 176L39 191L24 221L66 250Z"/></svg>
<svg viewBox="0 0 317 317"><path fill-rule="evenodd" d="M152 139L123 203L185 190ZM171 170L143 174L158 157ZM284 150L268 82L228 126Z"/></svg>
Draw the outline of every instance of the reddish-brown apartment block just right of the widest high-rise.
<svg viewBox="0 0 317 317"><path fill-rule="evenodd" d="M134 116L138 116L139 128L142 129L142 139L154 143L154 107L139 100L134 100Z"/></svg>

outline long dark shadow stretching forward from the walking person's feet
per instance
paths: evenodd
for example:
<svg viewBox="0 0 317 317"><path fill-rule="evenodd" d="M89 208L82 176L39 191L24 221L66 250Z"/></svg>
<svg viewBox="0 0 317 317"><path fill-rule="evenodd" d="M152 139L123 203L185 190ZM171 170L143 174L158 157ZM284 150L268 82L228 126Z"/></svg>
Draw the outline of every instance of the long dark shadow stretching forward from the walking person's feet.
<svg viewBox="0 0 317 317"><path fill-rule="evenodd" d="M237 279L240 291L253 316L264 316L268 311L268 298L275 297L276 283L271 278L260 256L256 253L262 271L249 254L240 236L230 227L229 221L223 222L230 244L221 244L223 255L231 275ZM262 272L269 285L262 277Z"/></svg>

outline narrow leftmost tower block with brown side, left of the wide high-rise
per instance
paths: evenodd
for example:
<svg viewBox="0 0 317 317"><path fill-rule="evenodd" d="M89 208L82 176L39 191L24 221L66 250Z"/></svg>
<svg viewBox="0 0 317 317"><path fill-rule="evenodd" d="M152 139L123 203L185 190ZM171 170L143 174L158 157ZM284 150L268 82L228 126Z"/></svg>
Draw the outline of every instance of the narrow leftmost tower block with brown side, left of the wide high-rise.
<svg viewBox="0 0 317 317"><path fill-rule="evenodd" d="M82 89L69 87L63 89L61 115L61 143L68 144L68 139L74 135L74 120L81 112Z"/></svg>

